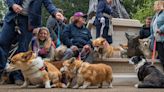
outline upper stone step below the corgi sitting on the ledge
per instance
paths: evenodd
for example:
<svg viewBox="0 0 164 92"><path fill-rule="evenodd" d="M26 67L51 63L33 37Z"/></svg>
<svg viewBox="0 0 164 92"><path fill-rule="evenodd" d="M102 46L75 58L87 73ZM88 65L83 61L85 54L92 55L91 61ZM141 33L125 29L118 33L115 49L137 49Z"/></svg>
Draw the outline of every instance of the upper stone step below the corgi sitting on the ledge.
<svg viewBox="0 0 164 92"><path fill-rule="evenodd" d="M105 60L96 60L94 63L105 63L112 67L114 73L135 73L134 66L129 64L128 58L109 58ZM151 61L148 59L148 61ZM154 62L154 65L162 71L162 67L158 60Z"/></svg>

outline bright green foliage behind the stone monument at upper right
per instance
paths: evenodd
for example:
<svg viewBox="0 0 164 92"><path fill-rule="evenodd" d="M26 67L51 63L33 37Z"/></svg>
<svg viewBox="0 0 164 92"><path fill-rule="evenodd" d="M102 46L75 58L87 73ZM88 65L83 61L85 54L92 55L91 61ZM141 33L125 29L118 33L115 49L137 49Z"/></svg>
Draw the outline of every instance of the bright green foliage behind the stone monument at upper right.
<svg viewBox="0 0 164 92"><path fill-rule="evenodd" d="M147 16L153 15L153 3L155 0L124 0L123 4L131 18L144 22Z"/></svg>

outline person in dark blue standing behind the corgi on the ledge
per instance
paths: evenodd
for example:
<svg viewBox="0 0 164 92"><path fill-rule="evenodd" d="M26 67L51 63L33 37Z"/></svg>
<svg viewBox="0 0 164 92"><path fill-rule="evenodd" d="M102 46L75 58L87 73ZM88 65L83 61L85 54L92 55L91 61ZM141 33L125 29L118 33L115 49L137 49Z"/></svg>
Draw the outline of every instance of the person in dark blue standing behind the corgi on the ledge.
<svg viewBox="0 0 164 92"><path fill-rule="evenodd" d="M112 0L98 0L96 19L94 21L94 25L96 26L96 38L102 36L108 41L109 44L112 43L112 35L109 35L108 33L110 15L112 14L111 4Z"/></svg>

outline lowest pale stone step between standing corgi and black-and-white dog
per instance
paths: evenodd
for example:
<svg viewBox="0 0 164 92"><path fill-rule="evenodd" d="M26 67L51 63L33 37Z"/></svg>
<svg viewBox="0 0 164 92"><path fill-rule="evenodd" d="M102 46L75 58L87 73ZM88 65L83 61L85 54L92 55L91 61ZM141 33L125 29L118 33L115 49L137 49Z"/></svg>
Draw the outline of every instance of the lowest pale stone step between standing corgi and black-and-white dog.
<svg viewBox="0 0 164 92"><path fill-rule="evenodd" d="M136 73L114 73L113 74L113 85L115 86L127 86L135 85L138 83Z"/></svg>

